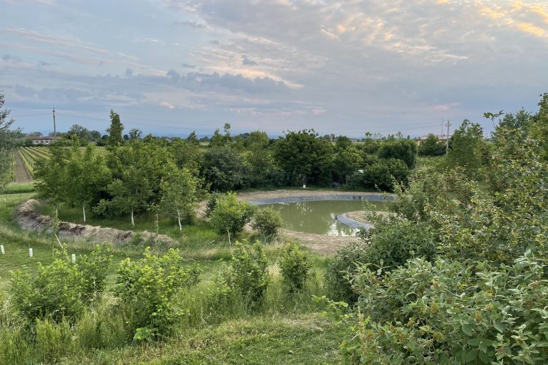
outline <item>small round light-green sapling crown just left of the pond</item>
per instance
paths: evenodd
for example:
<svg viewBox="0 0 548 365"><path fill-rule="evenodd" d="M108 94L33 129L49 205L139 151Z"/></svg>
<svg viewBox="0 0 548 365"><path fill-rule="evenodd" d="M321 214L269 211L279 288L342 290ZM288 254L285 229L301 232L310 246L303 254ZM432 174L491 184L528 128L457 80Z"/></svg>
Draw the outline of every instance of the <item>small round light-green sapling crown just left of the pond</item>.
<svg viewBox="0 0 548 365"><path fill-rule="evenodd" d="M236 194L218 196L216 206L211 212L211 226L218 234L228 231L236 236L251 221L254 212L255 206L246 201L238 201Z"/></svg>

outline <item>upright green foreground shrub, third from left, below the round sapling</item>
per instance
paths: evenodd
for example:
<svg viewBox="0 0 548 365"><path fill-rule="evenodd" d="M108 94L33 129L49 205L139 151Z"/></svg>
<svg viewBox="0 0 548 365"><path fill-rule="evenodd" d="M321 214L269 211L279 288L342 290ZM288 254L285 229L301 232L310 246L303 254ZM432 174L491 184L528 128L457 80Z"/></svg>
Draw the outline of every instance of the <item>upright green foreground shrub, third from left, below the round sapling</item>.
<svg viewBox="0 0 548 365"><path fill-rule="evenodd" d="M255 307L263 302L270 281L267 266L268 259L260 242L236 242L226 282L246 297L251 307Z"/></svg>

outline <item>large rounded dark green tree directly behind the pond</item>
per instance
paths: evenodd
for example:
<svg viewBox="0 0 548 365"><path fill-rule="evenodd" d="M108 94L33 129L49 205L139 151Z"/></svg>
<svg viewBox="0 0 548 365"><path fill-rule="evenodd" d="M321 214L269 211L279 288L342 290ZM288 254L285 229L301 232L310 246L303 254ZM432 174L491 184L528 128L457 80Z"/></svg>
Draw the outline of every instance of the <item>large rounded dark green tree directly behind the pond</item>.
<svg viewBox="0 0 548 365"><path fill-rule="evenodd" d="M274 155L293 181L300 181L305 185L308 181L318 183L331 178L331 144L317 138L314 129L288 132L285 138L276 142Z"/></svg>

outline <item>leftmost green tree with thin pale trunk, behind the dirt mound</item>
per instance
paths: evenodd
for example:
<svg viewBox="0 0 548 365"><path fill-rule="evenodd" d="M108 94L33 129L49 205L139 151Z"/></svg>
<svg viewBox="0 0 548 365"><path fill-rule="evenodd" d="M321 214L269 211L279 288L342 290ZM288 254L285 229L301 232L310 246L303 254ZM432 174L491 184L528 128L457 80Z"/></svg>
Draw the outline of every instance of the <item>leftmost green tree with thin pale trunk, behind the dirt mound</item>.
<svg viewBox="0 0 548 365"><path fill-rule="evenodd" d="M105 158L98 154L92 145L88 145L84 153L78 148L73 150L65 169L66 176L70 176L67 200L75 205L82 205L85 223L85 208L93 207L100 201L100 193L105 191L110 183L110 169L105 163Z"/></svg>

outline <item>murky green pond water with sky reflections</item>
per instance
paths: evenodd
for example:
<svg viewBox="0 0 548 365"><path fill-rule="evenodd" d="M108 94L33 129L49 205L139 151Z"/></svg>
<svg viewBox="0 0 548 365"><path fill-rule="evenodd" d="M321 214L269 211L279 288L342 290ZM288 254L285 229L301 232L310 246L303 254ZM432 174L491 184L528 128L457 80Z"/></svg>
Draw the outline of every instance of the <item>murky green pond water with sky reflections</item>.
<svg viewBox="0 0 548 365"><path fill-rule="evenodd" d="M384 202L367 202L368 210L383 210ZM327 236L354 236L357 228L346 226L335 217L349 211L363 211L364 201L325 200L266 204L282 215L284 228Z"/></svg>

